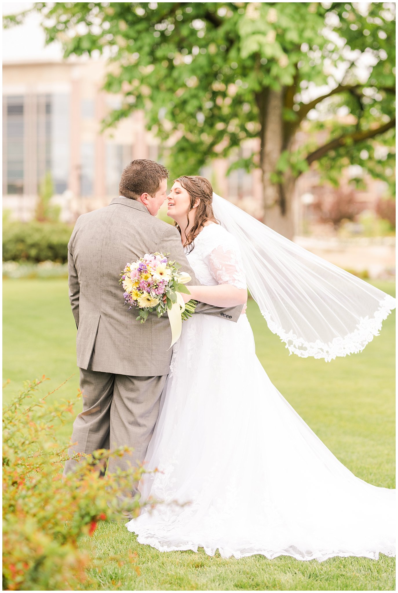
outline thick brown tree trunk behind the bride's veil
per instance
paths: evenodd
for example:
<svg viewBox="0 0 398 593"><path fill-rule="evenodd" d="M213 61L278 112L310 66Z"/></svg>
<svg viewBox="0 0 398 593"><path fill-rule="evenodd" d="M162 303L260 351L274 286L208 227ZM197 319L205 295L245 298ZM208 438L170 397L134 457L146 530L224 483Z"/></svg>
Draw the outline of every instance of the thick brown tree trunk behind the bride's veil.
<svg viewBox="0 0 398 593"><path fill-rule="evenodd" d="M282 183L272 183L272 173L276 172L276 163L282 152L288 149L288 140L284 137L282 119L285 88L278 91L264 89L257 96L261 123L260 166L263 179L263 222L292 239L294 235L294 218L292 212L292 194L294 179L289 171L284 174Z"/></svg>

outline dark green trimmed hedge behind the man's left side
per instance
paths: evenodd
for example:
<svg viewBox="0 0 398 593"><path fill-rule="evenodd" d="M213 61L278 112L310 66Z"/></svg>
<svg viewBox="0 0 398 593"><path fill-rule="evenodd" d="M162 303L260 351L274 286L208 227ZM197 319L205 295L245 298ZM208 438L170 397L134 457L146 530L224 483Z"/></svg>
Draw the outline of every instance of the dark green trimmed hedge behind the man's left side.
<svg viewBox="0 0 398 593"><path fill-rule="evenodd" d="M3 261L68 261L72 227L62 222L9 222L3 225Z"/></svg>

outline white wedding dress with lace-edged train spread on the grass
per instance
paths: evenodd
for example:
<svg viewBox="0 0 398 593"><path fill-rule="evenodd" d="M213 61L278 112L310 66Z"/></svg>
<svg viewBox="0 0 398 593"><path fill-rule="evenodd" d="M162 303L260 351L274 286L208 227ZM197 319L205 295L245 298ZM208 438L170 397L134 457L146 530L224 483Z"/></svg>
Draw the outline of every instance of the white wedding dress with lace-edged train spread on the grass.
<svg viewBox="0 0 398 593"><path fill-rule="evenodd" d="M187 257L203 285L246 287L221 226L206 226ZM184 321L145 467L158 471L141 480L142 497L165 504L127 527L160 551L395 554L395 491L355 477L292 409L256 357L246 315Z"/></svg>

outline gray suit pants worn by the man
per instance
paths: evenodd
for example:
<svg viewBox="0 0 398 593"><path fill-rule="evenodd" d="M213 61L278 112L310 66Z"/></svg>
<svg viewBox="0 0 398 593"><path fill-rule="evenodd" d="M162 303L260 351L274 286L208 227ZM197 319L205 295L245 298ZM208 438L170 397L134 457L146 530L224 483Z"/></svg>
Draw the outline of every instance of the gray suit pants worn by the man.
<svg viewBox="0 0 398 593"><path fill-rule="evenodd" d="M142 463L159 414L160 396L167 375L128 377L80 369L83 411L76 417L69 455L91 454L96 449L128 446L132 455L110 458L108 471L127 470ZM66 461L63 475L78 461ZM134 486L132 486L132 494Z"/></svg>

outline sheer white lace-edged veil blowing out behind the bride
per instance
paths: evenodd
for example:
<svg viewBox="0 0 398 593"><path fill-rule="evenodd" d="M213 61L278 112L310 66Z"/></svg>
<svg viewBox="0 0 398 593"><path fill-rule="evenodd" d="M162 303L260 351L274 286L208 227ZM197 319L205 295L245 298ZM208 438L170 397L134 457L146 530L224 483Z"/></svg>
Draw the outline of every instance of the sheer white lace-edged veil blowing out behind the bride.
<svg viewBox="0 0 398 593"><path fill-rule="evenodd" d="M238 242L247 287L269 329L306 358L361 352L395 299L282 237L221 196L215 218Z"/></svg>

